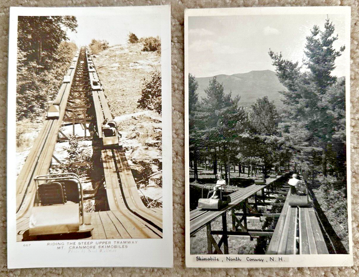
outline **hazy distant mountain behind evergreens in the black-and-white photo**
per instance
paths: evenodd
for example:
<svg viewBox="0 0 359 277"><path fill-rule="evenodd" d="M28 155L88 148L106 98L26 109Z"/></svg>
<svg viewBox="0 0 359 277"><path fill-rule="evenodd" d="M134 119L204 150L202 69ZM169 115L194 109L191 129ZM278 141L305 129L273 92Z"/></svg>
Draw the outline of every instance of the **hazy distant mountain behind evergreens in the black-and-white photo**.
<svg viewBox="0 0 359 277"><path fill-rule="evenodd" d="M204 90L208 87L209 80L212 77L196 78L198 82L197 93L198 99L205 97ZM236 95L241 96L239 104L244 107L250 105L257 100L267 95L270 101L274 101L275 105L281 106L280 101L283 98L278 91L286 90L279 82L275 72L270 70L251 71L248 73L239 73L233 75L217 75L217 81L223 83L224 93L228 94L232 90L232 98Z"/></svg>

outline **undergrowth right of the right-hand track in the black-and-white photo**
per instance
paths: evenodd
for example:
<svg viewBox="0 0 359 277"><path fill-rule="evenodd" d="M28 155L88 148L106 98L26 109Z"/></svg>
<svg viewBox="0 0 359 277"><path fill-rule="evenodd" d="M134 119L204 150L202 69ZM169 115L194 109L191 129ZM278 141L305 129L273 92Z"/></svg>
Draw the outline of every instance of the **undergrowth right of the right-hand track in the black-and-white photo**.
<svg viewBox="0 0 359 277"><path fill-rule="evenodd" d="M345 185L338 185L335 177L318 177L321 186L316 192L317 201L329 220L335 233L349 253L348 210ZM342 187L341 189L339 187Z"/></svg>

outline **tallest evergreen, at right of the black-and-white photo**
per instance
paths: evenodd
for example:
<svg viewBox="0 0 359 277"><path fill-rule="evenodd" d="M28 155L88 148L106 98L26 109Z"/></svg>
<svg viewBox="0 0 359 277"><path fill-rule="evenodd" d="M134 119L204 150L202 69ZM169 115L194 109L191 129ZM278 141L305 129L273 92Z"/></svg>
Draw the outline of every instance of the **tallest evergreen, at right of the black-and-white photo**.
<svg viewBox="0 0 359 277"><path fill-rule="evenodd" d="M327 155L332 148L333 136L343 133L342 127L339 127L341 131L338 133L336 124L338 120L345 121L344 94L336 82L336 76L331 75L335 59L345 47L340 47L339 51L333 48L333 43L337 40L333 33L334 25L329 19L326 20L324 31L317 26L313 27L311 35L306 38L304 51L306 59L303 65L307 71L303 71L298 62L285 60L281 54L269 52L279 81L287 88L287 91L281 92L285 97L285 121L279 125L282 135L288 147L292 147L311 164L316 162L318 153L315 152L321 151L324 175L327 173ZM341 104L334 109L332 98L338 94L342 95L339 98ZM339 118L335 119L335 116ZM345 141L345 135L341 137ZM345 152L345 149L342 151Z"/></svg>

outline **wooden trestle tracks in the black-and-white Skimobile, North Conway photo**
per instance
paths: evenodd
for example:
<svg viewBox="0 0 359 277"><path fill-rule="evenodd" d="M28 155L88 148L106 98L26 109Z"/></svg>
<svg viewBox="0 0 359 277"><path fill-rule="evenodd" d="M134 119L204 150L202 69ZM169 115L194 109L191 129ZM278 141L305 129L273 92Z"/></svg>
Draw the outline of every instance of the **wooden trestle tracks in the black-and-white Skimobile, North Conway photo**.
<svg viewBox="0 0 359 277"><path fill-rule="evenodd" d="M328 249L313 207L291 207L289 186L278 186L283 176L267 178L264 185L251 185L230 194L231 202L219 211L195 209L190 212L190 235L206 226L207 253L228 254L229 236L247 238L271 237L266 254L328 254ZM253 197L254 202L248 202ZM283 202L284 201L284 202ZM280 213L258 211L258 207L283 206ZM239 212L240 211L240 212ZM232 230L227 227L227 213ZM222 216L222 230L212 230L211 223ZM274 230L250 229L247 218L279 218ZM217 242L213 235L220 235Z"/></svg>

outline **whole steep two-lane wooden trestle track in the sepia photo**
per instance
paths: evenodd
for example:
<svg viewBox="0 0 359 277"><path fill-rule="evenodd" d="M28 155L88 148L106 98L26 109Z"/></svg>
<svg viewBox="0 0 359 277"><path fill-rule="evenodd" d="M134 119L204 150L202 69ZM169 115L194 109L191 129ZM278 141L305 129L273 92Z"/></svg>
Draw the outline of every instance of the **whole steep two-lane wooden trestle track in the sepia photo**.
<svg viewBox="0 0 359 277"><path fill-rule="evenodd" d="M55 100L60 103L59 119L45 121L17 178L18 241L24 239L29 228L31 208L37 204L33 179L37 175L48 174L56 142L68 139L60 137L61 125L82 124L85 131L83 139L88 139L86 124L90 123L101 138L102 122L113 119L102 88L91 88L91 81L99 78L96 71L89 72L86 52L86 48L82 47L78 56L75 56L67 72L71 81L62 83L60 87ZM94 115L88 115L93 107ZM112 149L101 147L98 151L102 156L109 210L87 213L85 221L91 222L94 229L91 237L84 239L162 238L162 208L149 209L143 204L122 146ZM71 239L71 234L66 238Z"/></svg>

